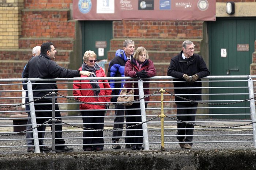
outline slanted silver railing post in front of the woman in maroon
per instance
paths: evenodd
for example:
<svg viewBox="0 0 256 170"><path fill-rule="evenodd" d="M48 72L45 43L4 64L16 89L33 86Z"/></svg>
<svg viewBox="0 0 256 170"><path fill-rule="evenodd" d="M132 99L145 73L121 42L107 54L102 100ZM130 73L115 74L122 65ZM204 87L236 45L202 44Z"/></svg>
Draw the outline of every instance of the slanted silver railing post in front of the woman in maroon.
<svg viewBox="0 0 256 170"><path fill-rule="evenodd" d="M138 80L138 88L139 88L140 98L144 97L143 81L141 79ZM141 113L142 122L147 121L144 98L142 100L140 100L140 113ZM144 140L145 150L149 151L147 123L142 124L142 129L143 129L143 140Z"/></svg>

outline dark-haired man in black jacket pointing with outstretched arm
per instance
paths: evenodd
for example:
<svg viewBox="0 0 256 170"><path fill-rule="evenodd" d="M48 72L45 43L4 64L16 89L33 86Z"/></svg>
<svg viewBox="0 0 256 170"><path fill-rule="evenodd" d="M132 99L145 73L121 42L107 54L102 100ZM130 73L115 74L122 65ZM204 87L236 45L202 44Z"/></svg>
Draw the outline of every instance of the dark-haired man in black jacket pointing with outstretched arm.
<svg viewBox="0 0 256 170"><path fill-rule="evenodd" d="M93 74L91 72L87 71L78 71L78 70L69 70L65 69L59 65L53 59L55 58L54 55L57 51L55 50L52 42L46 42L41 45L41 53L37 57L33 57L29 60L27 63L27 66L23 72L22 78L72 78L72 77L80 77L80 74L84 76L90 76L90 74ZM36 83L36 82L34 82ZM34 99L42 97L49 92L52 92L54 90L57 92L57 85L56 81L40 81L39 83L46 83L46 84L33 84L33 96ZM47 89L47 90L44 90ZM34 91L37 90L37 91ZM57 103L57 98L55 98L55 103ZM37 103L45 103L44 105L35 105L35 116L38 117L52 117L52 112L38 112L41 110L52 110L52 105L49 103L52 103L51 98L43 98L39 101L35 101L35 104ZM55 105L55 116L61 117L59 110L59 106ZM61 120L61 119L60 119ZM46 119L37 119L37 124L42 124ZM62 138L62 125L58 125L60 122L56 122L56 132L55 137L56 138ZM52 128L52 126L51 126ZM42 131L42 126L37 128L38 131ZM42 132L38 132L38 138L42 138ZM55 139L55 144L65 144L65 141L63 139ZM33 141L34 145L34 141ZM39 140L39 145L42 145L41 140ZM67 147L67 146L56 146L56 152L72 152L73 148Z"/></svg>

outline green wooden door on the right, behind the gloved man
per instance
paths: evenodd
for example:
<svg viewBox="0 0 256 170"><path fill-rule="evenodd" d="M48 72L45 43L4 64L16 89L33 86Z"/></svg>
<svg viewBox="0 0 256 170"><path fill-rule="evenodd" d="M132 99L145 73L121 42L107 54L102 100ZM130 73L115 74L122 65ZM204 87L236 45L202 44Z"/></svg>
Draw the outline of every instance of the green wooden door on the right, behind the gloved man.
<svg viewBox="0 0 256 170"><path fill-rule="evenodd" d="M217 18L216 22L208 22L209 35L209 69L212 76L249 75L254 42L256 40L255 18ZM238 50L242 49L242 51ZM246 49L249 50L247 51ZM225 51L226 50L226 51ZM225 57L226 53L226 57ZM224 57L221 57L223 55ZM223 80L223 79L222 79ZM210 86L248 86L248 82L211 82ZM248 88L210 89L210 93L248 93ZM244 100L249 95L216 95L211 100ZM220 102L218 102L220 103ZM248 102L226 105L230 107L249 107ZM220 107L213 106L213 107ZM211 109L212 114L250 113L249 108ZM212 116L215 118L245 119L249 116Z"/></svg>

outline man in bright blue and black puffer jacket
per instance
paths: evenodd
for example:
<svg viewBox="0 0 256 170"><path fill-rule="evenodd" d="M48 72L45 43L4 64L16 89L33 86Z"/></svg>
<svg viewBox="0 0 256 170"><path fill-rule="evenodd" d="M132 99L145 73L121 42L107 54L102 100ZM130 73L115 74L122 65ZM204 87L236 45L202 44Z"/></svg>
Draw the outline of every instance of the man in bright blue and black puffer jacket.
<svg viewBox="0 0 256 170"><path fill-rule="evenodd" d="M108 69L108 77L124 77L124 66L125 63L132 58L134 53L134 41L127 39L123 43L123 50L117 50L116 56L109 62L109 69ZM120 81L120 80L117 80ZM122 83L115 83L115 80L110 80L110 87L111 88L123 88L124 80ZM111 102L117 101L117 96L119 95L121 90L113 89L112 94L114 97L111 98ZM115 109L124 109L124 105L115 105ZM114 128L123 128L124 126L124 110L116 110L114 119ZM113 131L113 138L112 142L116 143L113 145L113 149L120 149L121 146L118 144L120 136L122 136L123 131ZM129 144L125 145L125 148L131 148Z"/></svg>

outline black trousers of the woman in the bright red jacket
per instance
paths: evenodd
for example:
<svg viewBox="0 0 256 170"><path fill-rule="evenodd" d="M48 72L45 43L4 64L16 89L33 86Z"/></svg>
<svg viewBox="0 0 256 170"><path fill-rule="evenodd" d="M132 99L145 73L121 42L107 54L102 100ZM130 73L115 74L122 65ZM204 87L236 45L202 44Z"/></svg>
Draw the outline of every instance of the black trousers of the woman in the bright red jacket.
<svg viewBox="0 0 256 170"><path fill-rule="evenodd" d="M105 111L81 111L82 116L104 116ZM104 117L83 117L83 123L84 128L93 128L93 129L103 129L104 128ZM102 124L90 124L90 123L102 123ZM102 137L102 138L92 138L92 137ZM85 150L87 147L90 148L96 148L99 147L103 150L103 131L88 131L84 129L83 132L83 144L93 144L94 145L83 145L83 150ZM99 143L99 144L97 144Z"/></svg>

